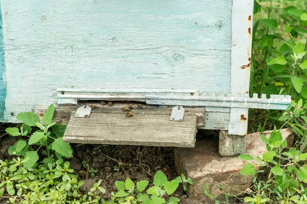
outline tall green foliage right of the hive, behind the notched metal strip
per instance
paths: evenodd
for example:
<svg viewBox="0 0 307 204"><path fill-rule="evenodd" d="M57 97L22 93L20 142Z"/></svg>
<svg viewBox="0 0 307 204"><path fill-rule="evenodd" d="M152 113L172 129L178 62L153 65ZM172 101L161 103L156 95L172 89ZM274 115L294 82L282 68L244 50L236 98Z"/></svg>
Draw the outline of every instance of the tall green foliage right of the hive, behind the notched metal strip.
<svg viewBox="0 0 307 204"><path fill-rule="evenodd" d="M306 1L255 0L250 94L290 94L307 99ZM280 111L250 110L252 131L283 125ZM294 120L294 123L297 122ZM291 124L287 124L291 126ZM299 135L297 128L293 131Z"/></svg>

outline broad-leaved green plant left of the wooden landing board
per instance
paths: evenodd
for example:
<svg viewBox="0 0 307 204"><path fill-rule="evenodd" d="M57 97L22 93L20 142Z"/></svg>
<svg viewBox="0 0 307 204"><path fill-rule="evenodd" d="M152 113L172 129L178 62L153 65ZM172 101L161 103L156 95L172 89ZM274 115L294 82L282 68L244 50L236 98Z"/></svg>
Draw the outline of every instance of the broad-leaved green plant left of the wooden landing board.
<svg viewBox="0 0 307 204"><path fill-rule="evenodd" d="M13 137L19 136L19 139L13 146L9 148L10 155L24 156L23 165L26 168L33 167L38 161L39 157L37 151L41 147L45 147L42 150L42 154L50 155L52 152L57 158L72 156L72 148L68 142L63 142L63 135L66 126L55 125L52 121L54 113L54 105L50 105L46 113L42 117L42 122L39 122L39 118L35 113L24 112L19 113L16 118L23 121L20 129L18 127L8 127L6 132ZM39 130L32 132L32 127L38 127ZM36 149L36 150L34 150Z"/></svg>

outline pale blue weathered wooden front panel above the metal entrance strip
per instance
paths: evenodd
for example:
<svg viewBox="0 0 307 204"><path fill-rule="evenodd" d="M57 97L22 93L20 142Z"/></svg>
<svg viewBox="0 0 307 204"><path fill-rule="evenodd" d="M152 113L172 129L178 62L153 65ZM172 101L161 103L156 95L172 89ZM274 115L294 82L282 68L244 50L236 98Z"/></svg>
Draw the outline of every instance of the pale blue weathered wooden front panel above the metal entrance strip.
<svg viewBox="0 0 307 204"><path fill-rule="evenodd" d="M57 88L230 92L232 1L2 0L1 9L6 121L55 103Z"/></svg>

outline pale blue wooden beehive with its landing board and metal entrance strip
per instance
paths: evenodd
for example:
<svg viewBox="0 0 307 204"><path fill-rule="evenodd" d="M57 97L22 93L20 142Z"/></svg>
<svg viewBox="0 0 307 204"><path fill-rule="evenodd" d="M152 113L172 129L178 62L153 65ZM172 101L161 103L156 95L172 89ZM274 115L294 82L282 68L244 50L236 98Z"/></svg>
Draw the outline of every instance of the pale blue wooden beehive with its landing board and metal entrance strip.
<svg viewBox="0 0 307 204"><path fill-rule="evenodd" d="M193 146L196 129L245 135L248 108L284 109L289 102L246 103L253 2L3 0L0 121L18 122L20 112L55 104L58 114L73 112L62 120L72 142ZM75 118L80 106L64 105L80 99L155 106L131 118L122 116L122 105ZM169 121L172 107L157 105L199 108L177 122ZM141 133L147 139L138 142Z"/></svg>

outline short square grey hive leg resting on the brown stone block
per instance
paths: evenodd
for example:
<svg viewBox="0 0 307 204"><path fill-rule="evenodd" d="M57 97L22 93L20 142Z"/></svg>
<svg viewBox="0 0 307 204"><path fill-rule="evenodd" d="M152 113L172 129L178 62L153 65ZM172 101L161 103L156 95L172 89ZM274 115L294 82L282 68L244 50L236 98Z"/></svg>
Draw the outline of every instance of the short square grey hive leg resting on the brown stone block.
<svg viewBox="0 0 307 204"><path fill-rule="evenodd" d="M221 156L245 154L245 136L229 135L228 131L220 131L218 151Z"/></svg>

